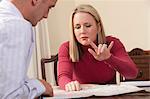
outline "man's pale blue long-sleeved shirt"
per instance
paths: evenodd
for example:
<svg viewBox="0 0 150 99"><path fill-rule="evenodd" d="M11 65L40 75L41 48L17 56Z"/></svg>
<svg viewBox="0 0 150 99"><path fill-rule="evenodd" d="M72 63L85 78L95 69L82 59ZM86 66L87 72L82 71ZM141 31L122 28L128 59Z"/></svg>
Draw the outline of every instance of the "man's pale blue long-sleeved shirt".
<svg viewBox="0 0 150 99"><path fill-rule="evenodd" d="M30 22L9 1L0 2L0 99L33 99L44 85L27 77L34 45Z"/></svg>

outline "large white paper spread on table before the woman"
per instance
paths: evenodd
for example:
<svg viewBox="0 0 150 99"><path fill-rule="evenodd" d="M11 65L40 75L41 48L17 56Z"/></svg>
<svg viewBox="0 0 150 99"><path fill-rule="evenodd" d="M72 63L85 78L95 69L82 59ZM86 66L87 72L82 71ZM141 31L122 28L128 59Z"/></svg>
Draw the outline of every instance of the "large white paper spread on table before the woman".
<svg viewBox="0 0 150 99"><path fill-rule="evenodd" d="M95 84L83 84L82 90L67 92L60 89L58 86L53 87L54 97L46 99L65 99L65 98L81 98L95 96L113 96L119 94L125 94L130 92L137 92L143 90L136 86L131 85L95 85Z"/></svg>

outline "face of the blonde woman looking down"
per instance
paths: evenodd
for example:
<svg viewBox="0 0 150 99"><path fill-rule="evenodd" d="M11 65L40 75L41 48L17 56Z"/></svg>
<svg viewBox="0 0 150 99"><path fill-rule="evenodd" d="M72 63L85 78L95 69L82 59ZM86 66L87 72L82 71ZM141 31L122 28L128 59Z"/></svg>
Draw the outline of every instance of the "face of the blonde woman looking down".
<svg viewBox="0 0 150 99"><path fill-rule="evenodd" d="M92 15L78 12L74 15L73 30L77 41L82 45L89 45L88 39L96 41L98 27Z"/></svg>

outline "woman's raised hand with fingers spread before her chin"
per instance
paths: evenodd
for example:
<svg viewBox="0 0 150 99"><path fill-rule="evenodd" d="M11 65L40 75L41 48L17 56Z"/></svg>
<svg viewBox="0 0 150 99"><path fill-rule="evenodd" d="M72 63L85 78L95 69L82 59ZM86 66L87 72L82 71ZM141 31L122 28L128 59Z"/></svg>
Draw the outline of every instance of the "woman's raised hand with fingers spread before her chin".
<svg viewBox="0 0 150 99"><path fill-rule="evenodd" d="M96 60L102 61L108 59L111 56L110 50L113 47L114 42L111 41L108 47L106 44L99 44L96 46L91 40L89 40L89 44L94 50L89 48L88 51L94 56Z"/></svg>

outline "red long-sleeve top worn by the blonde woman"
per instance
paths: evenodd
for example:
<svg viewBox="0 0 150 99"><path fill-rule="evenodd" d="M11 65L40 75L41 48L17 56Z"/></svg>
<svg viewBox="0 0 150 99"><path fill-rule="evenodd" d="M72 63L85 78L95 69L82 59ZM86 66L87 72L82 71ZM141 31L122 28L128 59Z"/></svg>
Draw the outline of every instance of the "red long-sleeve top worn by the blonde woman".
<svg viewBox="0 0 150 99"><path fill-rule="evenodd" d="M116 71L127 79L137 76L138 70L128 56L123 44L115 37L106 37L108 43L114 41L111 56L104 61L96 60L83 46L84 54L79 62L72 62L69 56L69 42L63 43L58 53L58 85L64 89L65 85L77 80L81 84L106 84L114 81Z"/></svg>

